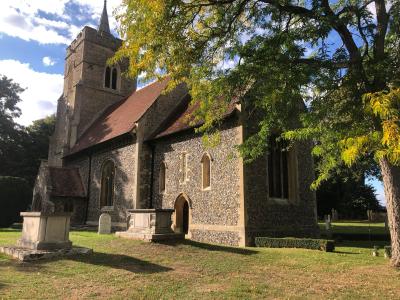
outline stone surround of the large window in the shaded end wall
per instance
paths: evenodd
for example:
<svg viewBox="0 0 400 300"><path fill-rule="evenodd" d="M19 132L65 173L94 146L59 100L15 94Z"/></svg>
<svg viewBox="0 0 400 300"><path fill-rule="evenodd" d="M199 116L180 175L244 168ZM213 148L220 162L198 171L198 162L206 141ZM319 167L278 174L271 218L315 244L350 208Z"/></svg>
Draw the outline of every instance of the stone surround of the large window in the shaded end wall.
<svg viewBox="0 0 400 300"><path fill-rule="evenodd" d="M276 204L289 204L294 203L299 199L298 196L298 161L297 161L297 147L291 145L287 150L287 168L288 168L288 197L278 198L270 197L269 193L269 154L266 155L266 182L268 187L267 199Z"/></svg>

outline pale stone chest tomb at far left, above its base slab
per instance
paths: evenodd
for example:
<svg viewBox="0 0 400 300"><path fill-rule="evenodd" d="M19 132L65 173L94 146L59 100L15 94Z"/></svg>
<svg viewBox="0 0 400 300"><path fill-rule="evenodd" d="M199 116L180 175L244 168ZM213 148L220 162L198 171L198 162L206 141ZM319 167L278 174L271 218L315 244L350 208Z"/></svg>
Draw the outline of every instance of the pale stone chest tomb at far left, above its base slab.
<svg viewBox="0 0 400 300"><path fill-rule="evenodd" d="M32 250L69 249L70 213L21 212L22 237L17 246Z"/></svg>

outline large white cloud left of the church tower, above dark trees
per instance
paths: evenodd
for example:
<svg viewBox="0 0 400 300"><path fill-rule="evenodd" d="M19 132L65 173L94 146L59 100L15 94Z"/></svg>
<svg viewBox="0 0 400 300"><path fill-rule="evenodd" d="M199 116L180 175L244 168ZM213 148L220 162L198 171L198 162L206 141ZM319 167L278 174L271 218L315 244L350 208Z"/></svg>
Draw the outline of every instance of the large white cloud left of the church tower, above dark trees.
<svg viewBox="0 0 400 300"><path fill-rule="evenodd" d="M62 93L64 76L33 70L28 63L17 60L0 60L0 72L19 83L25 91L18 106L22 110L17 120L22 125L52 114Z"/></svg>

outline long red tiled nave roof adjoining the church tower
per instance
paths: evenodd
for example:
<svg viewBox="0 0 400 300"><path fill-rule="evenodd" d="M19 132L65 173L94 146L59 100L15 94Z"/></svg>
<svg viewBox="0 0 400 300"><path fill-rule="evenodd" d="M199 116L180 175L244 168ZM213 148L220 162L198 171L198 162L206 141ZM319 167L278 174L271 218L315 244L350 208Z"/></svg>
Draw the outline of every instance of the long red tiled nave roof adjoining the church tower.
<svg viewBox="0 0 400 300"><path fill-rule="evenodd" d="M161 95L168 81L169 79L165 79L149 84L133 92L128 98L108 107L78 139L69 154L130 132L135 127L135 123Z"/></svg>

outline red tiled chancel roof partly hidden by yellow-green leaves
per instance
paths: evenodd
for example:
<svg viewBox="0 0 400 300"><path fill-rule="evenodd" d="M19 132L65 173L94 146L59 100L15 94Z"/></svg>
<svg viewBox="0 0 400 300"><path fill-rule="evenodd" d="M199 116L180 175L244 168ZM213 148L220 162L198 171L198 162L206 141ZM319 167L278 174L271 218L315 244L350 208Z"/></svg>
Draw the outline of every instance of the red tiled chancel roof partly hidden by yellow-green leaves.
<svg viewBox="0 0 400 300"><path fill-rule="evenodd" d="M190 97L187 101L184 101L172 114L171 118L158 130L154 139L164 137L170 134L174 134L180 131L184 131L189 128L195 128L203 124L203 121L197 124L192 124L195 119L194 112L199 107L199 103L190 105ZM232 102L229 105L227 112L224 117L230 116L235 110L235 103Z"/></svg>

